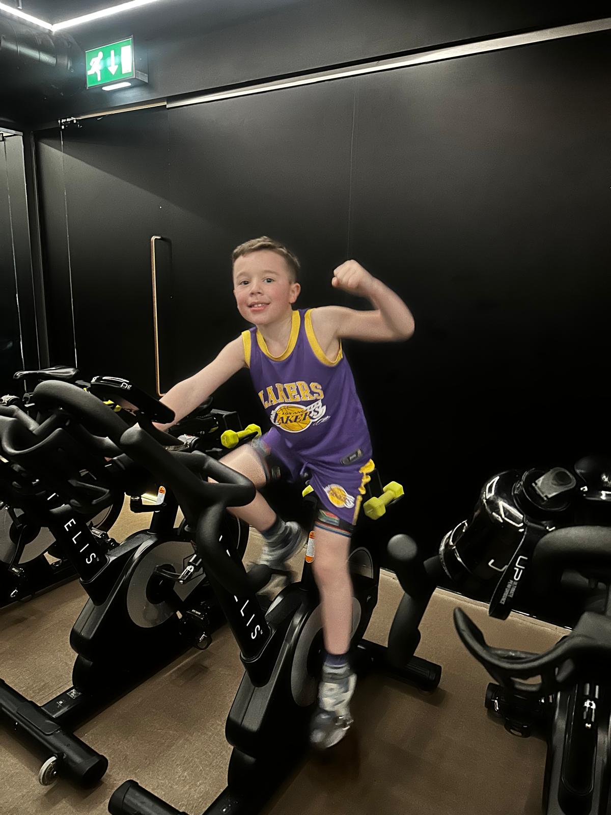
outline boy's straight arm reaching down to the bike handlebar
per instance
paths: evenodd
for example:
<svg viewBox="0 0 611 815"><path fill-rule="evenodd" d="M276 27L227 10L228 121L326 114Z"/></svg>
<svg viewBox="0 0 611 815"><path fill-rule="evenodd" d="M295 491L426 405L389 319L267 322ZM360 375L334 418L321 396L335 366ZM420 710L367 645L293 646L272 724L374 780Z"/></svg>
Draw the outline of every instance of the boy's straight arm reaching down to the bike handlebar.
<svg viewBox="0 0 611 815"><path fill-rule="evenodd" d="M240 368L244 368L244 345L242 337L229 342L219 353L216 359L213 359L209 365L202 368L192 377L178 382L170 388L167 394L162 397L161 402L171 407L176 414L174 421L169 425L160 425L154 422L156 428L159 430L166 430L168 427L175 425L188 413L208 399L210 394L213 394L217 388L226 382L234 373L238 372Z"/></svg>

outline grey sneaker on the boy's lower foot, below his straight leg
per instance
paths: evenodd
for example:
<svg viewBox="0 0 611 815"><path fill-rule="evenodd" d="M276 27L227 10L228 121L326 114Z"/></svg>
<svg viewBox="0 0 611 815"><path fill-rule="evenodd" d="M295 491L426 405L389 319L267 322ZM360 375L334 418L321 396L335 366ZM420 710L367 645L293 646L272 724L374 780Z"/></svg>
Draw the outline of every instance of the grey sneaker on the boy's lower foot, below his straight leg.
<svg viewBox="0 0 611 815"><path fill-rule="evenodd" d="M356 674L348 666L341 672L323 667L319 686L319 707L310 722L310 743L327 750L341 742L352 725L349 703L356 687Z"/></svg>

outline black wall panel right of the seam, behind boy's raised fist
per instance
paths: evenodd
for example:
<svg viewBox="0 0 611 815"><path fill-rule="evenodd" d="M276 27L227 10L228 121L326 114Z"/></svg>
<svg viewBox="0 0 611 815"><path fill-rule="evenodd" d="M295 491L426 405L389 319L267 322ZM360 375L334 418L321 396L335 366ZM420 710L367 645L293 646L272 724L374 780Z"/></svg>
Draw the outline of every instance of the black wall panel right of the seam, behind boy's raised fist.
<svg viewBox="0 0 611 815"><path fill-rule="evenodd" d="M354 363L380 462L402 462L432 544L499 469L609 449L610 45L358 83L350 250L416 331L355 345Z"/></svg>

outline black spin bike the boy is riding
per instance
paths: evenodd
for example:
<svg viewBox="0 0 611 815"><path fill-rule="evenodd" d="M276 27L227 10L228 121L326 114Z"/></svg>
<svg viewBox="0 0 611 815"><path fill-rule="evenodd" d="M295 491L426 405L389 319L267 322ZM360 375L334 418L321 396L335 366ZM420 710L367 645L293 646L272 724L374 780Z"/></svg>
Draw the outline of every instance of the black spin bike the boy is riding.
<svg viewBox="0 0 611 815"><path fill-rule="evenodd" d="M225 508L253 500L252 483L208 456L167 452L137 427L125 431L120 445L178 496L196 553L240 645L245 674L226 721L226 738L233 746L227 786L206 813L258 813L306 751L323 650L311 566L306 562L301 580L284 588L264 611L251 576L229 557L218 535ZM393 664L389 650L362 639L376 605L379 578L376 546L363 539L355 537L349 553L354 584L351 645L357 667L376 667L421 689L434 689L439 666L422 659ZM115 791L108 809L112 815L178 815L134 781Z"/></svg>

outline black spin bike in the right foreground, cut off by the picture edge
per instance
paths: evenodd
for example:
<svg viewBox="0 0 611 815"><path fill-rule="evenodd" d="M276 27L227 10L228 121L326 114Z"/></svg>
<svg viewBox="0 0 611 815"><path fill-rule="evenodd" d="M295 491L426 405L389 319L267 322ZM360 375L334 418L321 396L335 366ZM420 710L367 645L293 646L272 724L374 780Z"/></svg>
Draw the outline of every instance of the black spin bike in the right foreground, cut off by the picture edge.
<svg viewBox="0 0 611 815"><path fill-rule="evenodd" d="M541 597L560 592L562 575L577 569L604 585L604 608L585 611L566 637L544 654L492 648L463 610L456 630L469 652L499 684L486 707L512 734L547 736L543 779L546 815L607 815L611 773L611 529L571 526L538 541L530 565ZM527 679L538 678L536 682Z"/></svg>

